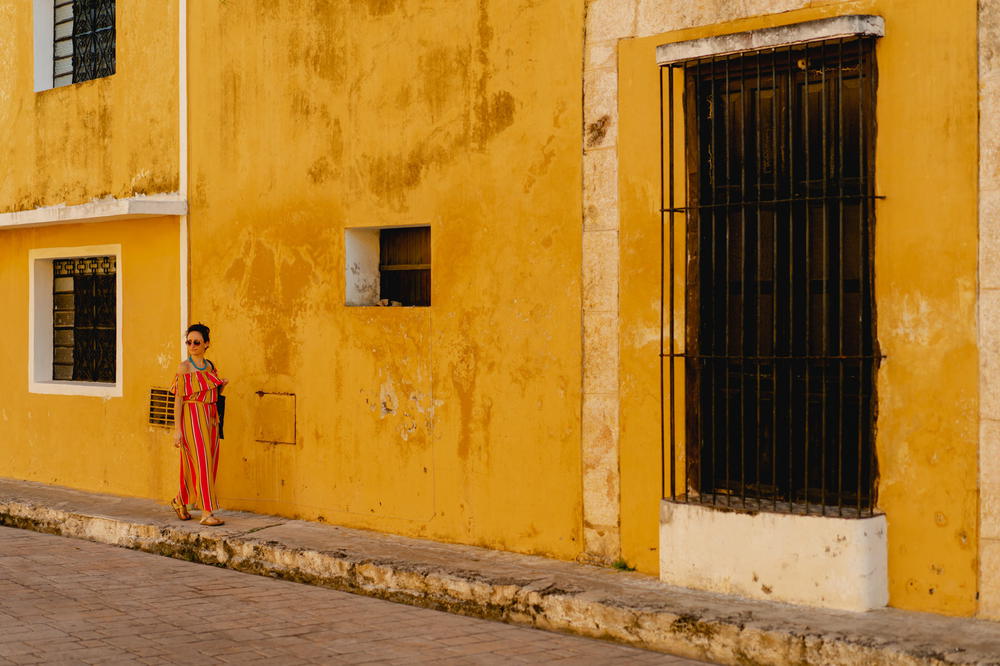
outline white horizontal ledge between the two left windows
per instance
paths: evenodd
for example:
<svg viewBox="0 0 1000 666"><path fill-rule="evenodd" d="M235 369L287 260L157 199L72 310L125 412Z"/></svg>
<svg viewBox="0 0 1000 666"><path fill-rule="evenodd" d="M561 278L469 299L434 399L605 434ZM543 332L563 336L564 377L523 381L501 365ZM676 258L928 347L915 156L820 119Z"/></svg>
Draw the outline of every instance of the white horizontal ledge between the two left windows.
<svg viewBox="0 0 1000 666"><path fill-rule="evenodd" d="M40 227L52 224L105 222L115 219L184 215L187 201L177 195L98 199L86 204L46 206L0 214L0 231L4 228Z"/></svg>

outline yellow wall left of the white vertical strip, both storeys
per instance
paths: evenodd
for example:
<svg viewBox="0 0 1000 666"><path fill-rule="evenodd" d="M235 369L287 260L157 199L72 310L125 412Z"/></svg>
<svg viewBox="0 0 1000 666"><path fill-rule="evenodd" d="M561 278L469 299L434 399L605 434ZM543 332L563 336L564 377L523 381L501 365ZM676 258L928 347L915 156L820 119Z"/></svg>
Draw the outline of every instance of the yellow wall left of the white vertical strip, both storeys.
<svg viewBox="0 0 1000 666"><path fill-rule="evenodd" d="M0 212L177 190L177 7L117 3L113 76L34 92L32 3L0 2ZM28 252L121 244L124 396L28 393ZM176 218L0 229L0 475L166 497L176 454L146 424L176 366Z"/></svg>

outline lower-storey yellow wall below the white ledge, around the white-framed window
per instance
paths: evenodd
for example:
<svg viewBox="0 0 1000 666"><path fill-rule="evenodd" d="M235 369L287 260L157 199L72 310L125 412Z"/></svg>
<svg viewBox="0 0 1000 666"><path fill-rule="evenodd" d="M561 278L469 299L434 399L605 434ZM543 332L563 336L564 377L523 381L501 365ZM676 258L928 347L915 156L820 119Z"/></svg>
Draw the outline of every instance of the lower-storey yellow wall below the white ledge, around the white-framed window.
<svg viewBox="0 0 1000 666"><path fill-rule="evenodd" d="M120 244L123 396L28 393L28 252ZM167 498L177 453L147 424L149 389L177 368L177 220L147 218L0 230L0 476Z"/></svg>

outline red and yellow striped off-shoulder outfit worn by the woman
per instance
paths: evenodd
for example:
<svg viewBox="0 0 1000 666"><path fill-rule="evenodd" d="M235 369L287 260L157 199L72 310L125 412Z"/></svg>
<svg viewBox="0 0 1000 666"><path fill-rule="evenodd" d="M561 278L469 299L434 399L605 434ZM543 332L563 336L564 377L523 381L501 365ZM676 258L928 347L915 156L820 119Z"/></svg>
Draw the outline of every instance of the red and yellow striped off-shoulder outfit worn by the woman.
<svg viewBox="0 0 1000 666"><path fill-rule="evenodd" d="M215 400L222 380L214 367L178 374L170 389L181 390L181 504L200 498L202 511L219 508L215 498L215 475L219 470L219 426Z"/></svg>

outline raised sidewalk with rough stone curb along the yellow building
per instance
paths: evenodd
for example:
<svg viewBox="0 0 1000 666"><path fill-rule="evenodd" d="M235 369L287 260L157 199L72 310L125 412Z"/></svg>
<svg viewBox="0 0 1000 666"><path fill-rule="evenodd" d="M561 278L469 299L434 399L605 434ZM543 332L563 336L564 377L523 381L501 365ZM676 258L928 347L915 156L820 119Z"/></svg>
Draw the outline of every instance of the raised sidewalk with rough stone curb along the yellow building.
<svg viewBox="0 0 1000 666"><path fill-rule="evenodd" d="M224 512L181 523L151 500L0 479L0 525L605 638L724 664L1000 664L1000 623L831 611L671 587L637 573Z"/></svg>

